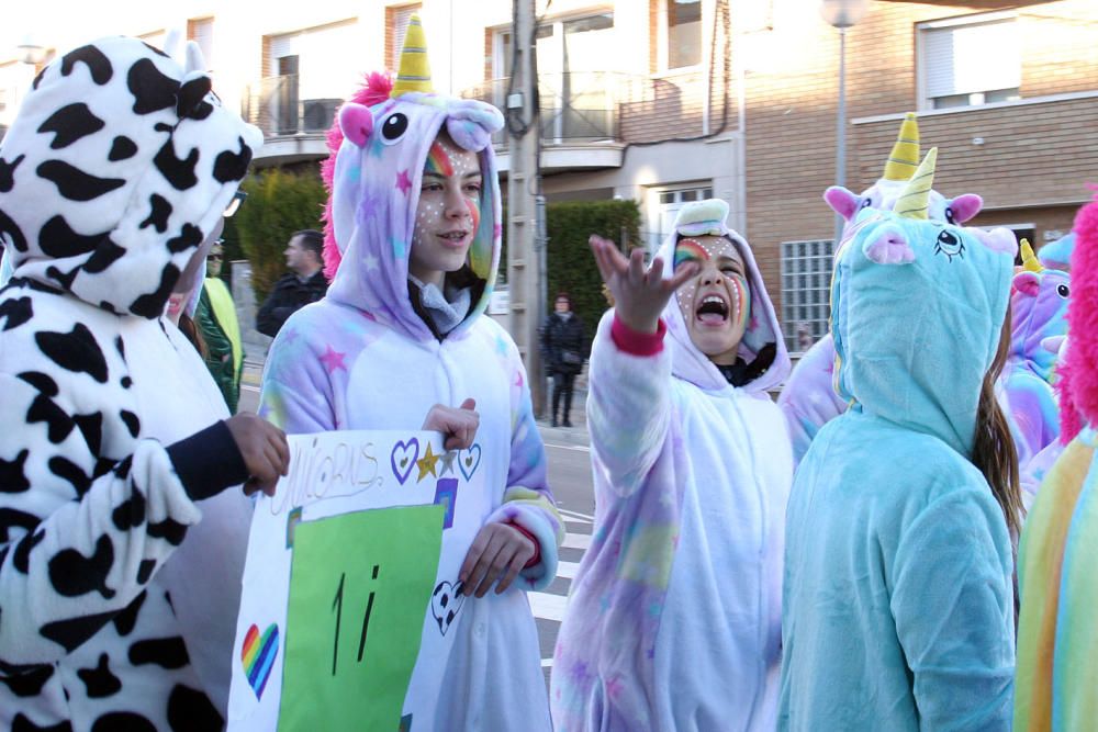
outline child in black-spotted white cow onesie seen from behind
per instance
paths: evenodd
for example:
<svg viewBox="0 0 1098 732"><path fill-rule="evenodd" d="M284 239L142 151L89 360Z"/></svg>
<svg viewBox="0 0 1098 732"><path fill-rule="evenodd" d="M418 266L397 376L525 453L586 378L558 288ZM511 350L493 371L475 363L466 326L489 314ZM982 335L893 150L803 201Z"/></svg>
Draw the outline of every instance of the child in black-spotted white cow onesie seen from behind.
<svg viewBox="0 0 1098 732"><path fill-rule="evenodd" d="M225 488L289 452L160 317L261 144L195 52L65 54L0 146L0 729L223 725L250 521Z"/></svg>

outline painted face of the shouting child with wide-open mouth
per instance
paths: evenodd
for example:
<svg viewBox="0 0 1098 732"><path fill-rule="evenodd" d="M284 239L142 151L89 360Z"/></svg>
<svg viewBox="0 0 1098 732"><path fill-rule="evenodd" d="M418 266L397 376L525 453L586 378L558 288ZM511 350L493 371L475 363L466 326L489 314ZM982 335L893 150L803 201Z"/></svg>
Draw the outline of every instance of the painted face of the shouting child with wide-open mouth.
<svg viewBox="0 0 1098 732"><path fill-rule="evenodd" d="M699 267L675 293L691 341L714 363L732 364L751 314L743 258L722 236L696 236L675 245L675 267L685 261Z"/></svg>

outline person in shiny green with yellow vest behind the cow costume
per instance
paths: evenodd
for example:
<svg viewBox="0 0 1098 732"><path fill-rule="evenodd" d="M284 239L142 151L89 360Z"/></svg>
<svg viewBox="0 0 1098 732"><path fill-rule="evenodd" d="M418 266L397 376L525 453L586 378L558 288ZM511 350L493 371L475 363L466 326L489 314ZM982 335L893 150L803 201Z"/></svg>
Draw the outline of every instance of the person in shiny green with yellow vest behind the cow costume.
<svg viewBox="0 0 1098 732"><path fill-rule="evenodd" d="M219 238L206 257L206 278L202 283L194 320L205 344L206 368L217 382L228 410L236 414L236 405L240 399L244 348L240 344L240 325L236 319L236 305L221 279L225 257L223 241Z"/></svg>

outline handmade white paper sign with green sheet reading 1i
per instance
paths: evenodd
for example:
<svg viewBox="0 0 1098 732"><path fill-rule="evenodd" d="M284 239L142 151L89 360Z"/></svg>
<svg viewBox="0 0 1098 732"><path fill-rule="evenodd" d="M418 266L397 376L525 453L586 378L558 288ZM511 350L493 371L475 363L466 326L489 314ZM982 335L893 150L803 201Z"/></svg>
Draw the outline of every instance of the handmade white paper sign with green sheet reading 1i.
<svg viewBox="0 0 1098 732"><path fill-rule="evenodd" d="M481 448L434 432L292 436L256 502L231 730L401 730L432 720L490 513Z"/></svg>

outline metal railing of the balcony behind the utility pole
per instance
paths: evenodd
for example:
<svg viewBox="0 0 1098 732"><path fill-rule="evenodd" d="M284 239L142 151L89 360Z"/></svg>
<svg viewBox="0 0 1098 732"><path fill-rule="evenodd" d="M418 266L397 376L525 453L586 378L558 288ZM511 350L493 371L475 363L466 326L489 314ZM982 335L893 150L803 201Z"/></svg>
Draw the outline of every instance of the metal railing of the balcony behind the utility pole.
<svg viewBox="0 0 1098 732"><path fill-rule="evenodd" d="M665 123L683 110L701 110L701 74L674 80L616 71L539 74L541 142L639 142L661 120ZM463 90L461 95L503 110L508 82L507 78L493 79ZM690 124L688 120L684 122ZM496 133L493 142L505 145L505 132Z"/></svg>

